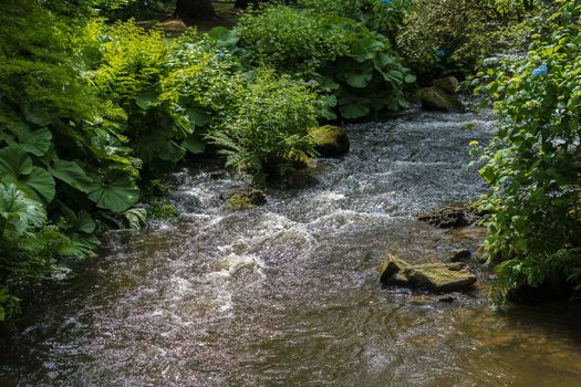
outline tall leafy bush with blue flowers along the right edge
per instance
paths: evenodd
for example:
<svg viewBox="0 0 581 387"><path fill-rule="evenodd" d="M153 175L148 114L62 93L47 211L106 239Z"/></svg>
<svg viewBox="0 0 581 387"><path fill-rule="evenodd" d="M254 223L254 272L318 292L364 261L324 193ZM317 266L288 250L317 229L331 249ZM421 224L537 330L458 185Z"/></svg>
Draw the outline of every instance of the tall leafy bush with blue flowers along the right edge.
<svg viewBox="0 0 581 387"><path fill-rule="evenodd" d="M491 186L486 249L498 292L549 275L581 283L581 6L567 2L526 56L487 70L500 128L481 161Z"/></svg>

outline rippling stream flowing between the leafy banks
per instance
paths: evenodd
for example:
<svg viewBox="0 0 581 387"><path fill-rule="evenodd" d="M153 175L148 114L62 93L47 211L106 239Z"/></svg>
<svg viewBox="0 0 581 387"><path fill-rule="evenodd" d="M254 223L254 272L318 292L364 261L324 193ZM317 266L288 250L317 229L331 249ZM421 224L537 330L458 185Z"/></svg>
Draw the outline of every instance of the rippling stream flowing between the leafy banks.
<svg viewBox="0 0 581 387"><path fill-rule="evenodd" d="M468 142L485 144L492 117L415 113L349 130L351 153L319 160L315 186L268 189L264 207L229 208L247 182L211 165L175 174L181 216L111 233L38 295L2 342L0 385L579 385L579 310L499 313L484 284L444 303L377 280L387 252L427 262L477 244L478 230L413 215L485 190Z"/></svg>

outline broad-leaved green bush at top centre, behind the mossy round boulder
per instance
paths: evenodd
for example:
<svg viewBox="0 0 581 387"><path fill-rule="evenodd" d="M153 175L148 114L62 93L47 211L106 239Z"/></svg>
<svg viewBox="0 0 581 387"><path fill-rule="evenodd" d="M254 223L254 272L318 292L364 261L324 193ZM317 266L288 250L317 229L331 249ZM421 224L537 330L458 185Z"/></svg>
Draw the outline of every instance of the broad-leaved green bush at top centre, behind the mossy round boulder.
<svg viewBox="0 0 581 387"><path fill-rule="evenodd" d="M232 34L229 48L245 65L315 81L321 117L333 119L338 111L359 118L408 106L404 90L415 77L384 35L352 19L270 6L240 17ZM218 42L228 45L221 35Z"/></svg>

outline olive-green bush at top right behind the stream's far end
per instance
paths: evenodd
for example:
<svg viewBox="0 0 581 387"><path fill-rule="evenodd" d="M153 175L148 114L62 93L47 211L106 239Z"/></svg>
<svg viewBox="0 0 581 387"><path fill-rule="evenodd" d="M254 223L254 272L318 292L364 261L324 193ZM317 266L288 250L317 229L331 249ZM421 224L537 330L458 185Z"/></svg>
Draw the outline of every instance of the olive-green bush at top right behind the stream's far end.
<svg viewBox="0 0 581 387"><path fill-rule="evenodd" d="M471 75L496 52L519 51L550 1L415 0L397 33L412 69L426 77Z"/></svg>

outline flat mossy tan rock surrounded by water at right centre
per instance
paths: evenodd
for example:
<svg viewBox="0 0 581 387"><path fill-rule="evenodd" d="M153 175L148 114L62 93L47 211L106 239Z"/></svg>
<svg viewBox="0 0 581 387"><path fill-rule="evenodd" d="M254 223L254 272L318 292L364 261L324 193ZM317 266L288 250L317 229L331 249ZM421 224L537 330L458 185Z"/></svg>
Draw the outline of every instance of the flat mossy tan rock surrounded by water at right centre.
<svg viewBox="0 0 581 387"><path fill-rule="evenodd" d="M476 275L461 263L409 264L395 255L387 255L377 270L384 284L435 292L466 290L476 282Z"/></svg>

